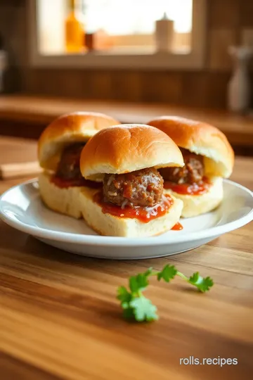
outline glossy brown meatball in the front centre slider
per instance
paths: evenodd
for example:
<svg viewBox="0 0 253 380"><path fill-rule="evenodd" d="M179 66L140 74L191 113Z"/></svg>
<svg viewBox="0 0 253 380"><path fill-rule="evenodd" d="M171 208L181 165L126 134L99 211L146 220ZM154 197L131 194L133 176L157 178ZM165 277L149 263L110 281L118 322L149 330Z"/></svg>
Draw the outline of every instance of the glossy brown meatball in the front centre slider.
<svg viewBox="0 0 253 380"><path fill-rule="evenodd" d="M124 208L125 205L152 207L162 198L163 179L154 167L122 175L105 175L103 195L107 202Z"/></svg>

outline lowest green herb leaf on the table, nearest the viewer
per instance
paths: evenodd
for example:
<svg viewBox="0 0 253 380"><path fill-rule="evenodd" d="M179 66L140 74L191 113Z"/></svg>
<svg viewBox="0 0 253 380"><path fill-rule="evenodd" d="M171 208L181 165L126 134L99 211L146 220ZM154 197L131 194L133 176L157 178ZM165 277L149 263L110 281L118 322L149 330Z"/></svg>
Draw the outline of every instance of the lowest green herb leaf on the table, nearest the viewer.
<svg viewBox="0 0 253 380"><path fill-rule="evenodd" d="M133 309L135 319L138 322L151 322L158 319L156 306L144 296L134 298L130 301L129 305Z"/></svg>

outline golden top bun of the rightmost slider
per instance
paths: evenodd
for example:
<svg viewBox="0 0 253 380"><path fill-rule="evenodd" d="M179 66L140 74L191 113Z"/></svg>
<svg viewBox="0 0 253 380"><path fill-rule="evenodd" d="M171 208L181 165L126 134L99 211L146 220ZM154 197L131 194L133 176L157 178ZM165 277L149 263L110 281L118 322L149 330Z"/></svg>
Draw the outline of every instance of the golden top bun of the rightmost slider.
<svg viewBox="0 0 253 380"><path fill-rule="evenodd" d="M234 152L225 134L205 122L161 116L148 122L165 132L176 145L204 156L205 174L227 178L234 165Z"/></svg>

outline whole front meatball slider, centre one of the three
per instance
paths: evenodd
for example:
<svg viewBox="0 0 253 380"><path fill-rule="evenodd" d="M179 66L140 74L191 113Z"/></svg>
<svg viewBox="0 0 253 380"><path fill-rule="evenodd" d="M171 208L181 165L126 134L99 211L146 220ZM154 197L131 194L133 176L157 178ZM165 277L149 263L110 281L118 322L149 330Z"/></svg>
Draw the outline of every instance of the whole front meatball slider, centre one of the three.
<svg viewBox="0 0 253 380"><path fill-rule="evenodd" d="M158 167L181 167L174 142L148 125L117 125L98 132L84 147L84 178L103 189L83 189L84 220L109 236L153 236L179 222L183 202L163 194Z"/></svg>

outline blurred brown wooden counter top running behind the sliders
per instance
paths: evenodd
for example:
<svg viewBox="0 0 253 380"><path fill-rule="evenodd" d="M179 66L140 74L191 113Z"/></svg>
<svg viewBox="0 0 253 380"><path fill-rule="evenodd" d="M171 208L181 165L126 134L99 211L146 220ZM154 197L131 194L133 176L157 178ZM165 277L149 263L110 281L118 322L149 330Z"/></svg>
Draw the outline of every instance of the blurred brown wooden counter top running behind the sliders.
<svg viewBox="0 0 253 380"><path fill-rule="evenodd" d="M148 122L159 115L174 114L203 120L219 127L233 145L253 147L253 115L231 115L225 111L161 106L149 103L119 103L106 101L67 100L59 98L36 98L29 96L1 96L0 134L8 134L15 122L25 123L16 130L22 136L37 137L41 128L58 115L77 110L93 110L108 113L120 122ZM41 126L41 128L40 128ZM34 129L37 129L35 131ZM20 135L20 134L19 134ZM252 148L253 149L253 148Z"/></svg>

